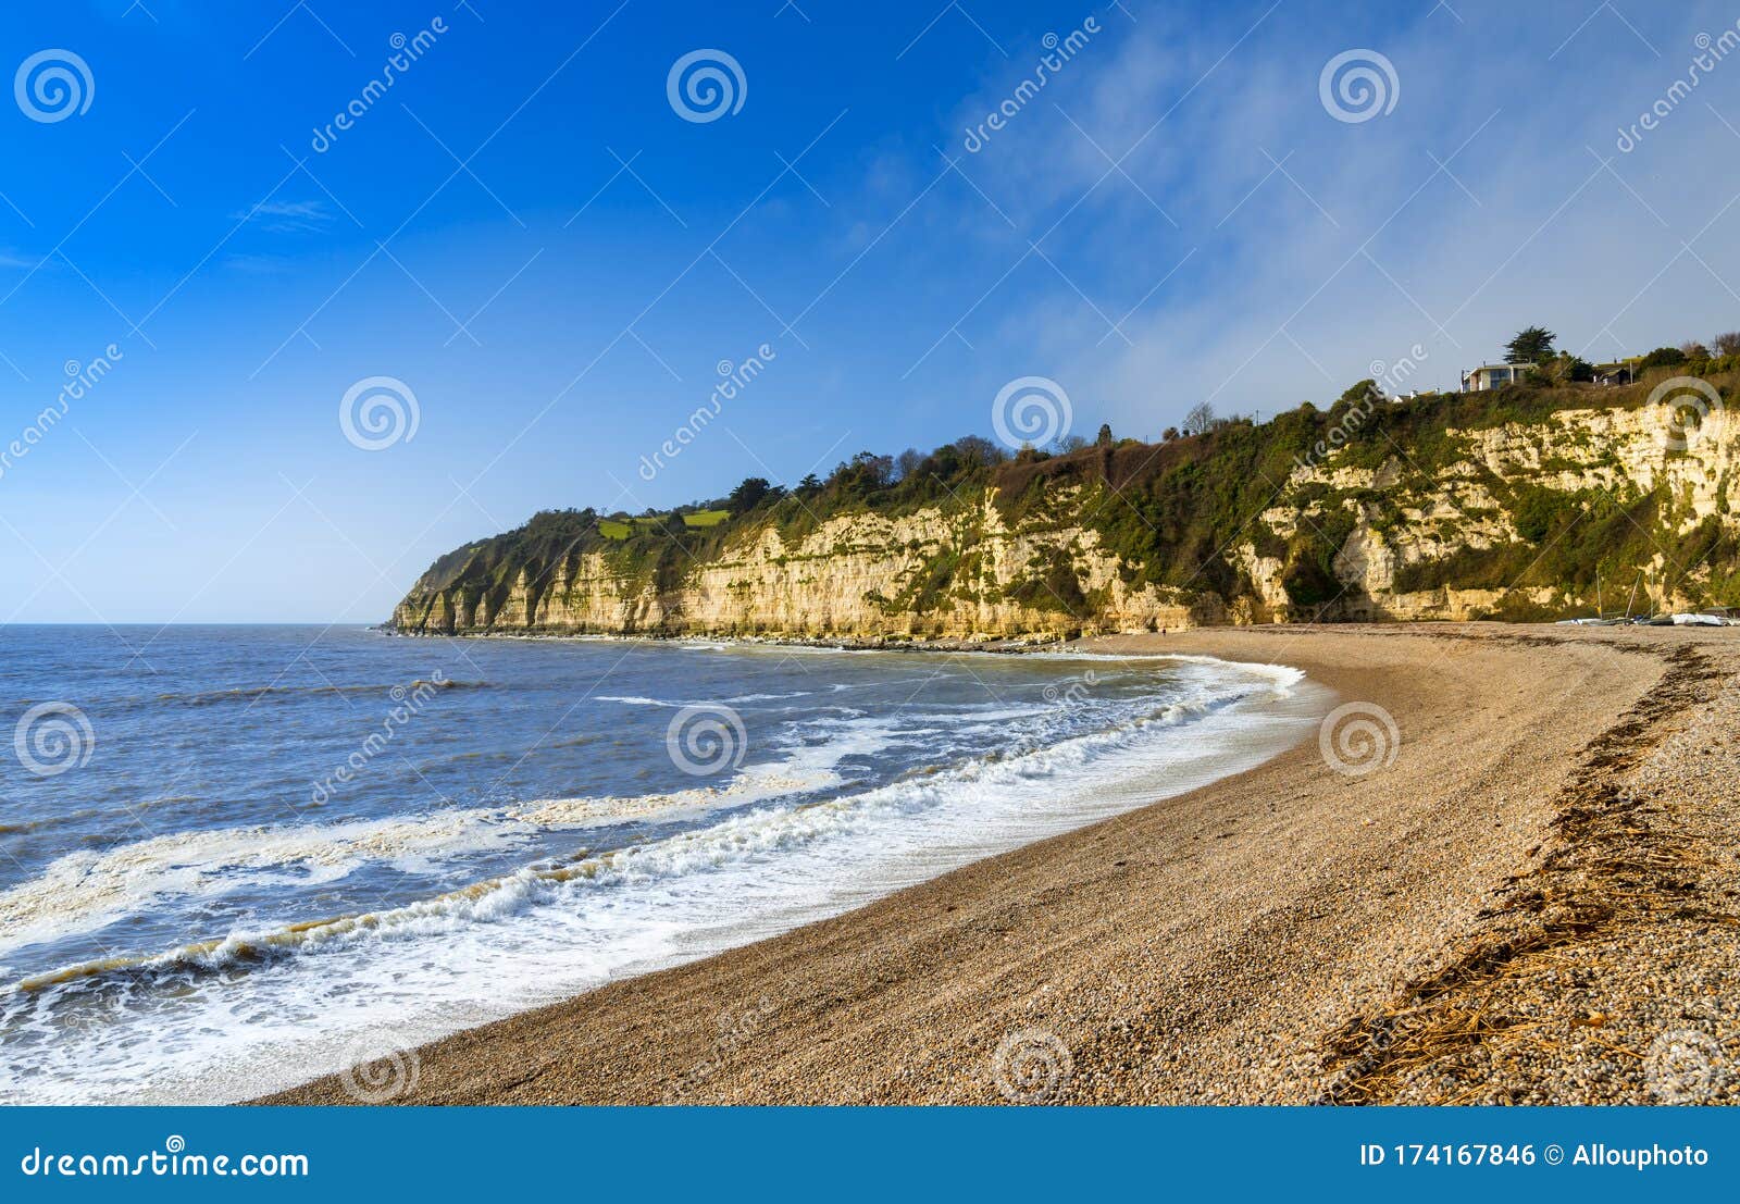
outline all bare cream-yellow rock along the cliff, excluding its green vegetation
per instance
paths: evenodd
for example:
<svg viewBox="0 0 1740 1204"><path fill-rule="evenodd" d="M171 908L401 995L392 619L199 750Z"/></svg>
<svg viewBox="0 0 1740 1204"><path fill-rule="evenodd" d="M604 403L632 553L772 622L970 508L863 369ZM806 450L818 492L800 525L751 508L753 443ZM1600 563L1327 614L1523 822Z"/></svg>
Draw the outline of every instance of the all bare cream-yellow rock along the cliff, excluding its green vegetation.
<svg viewBox="0 0 1740 1204"><path fill-rule="evenodd" d="M1291 595L1288 564L1255 538L1221 552L1237 579L1227 593L1136 583L1140 565L1107 550L1081 513L1081 499L1065 492L1044 515L1016 525L987 494L966 508L839 515L792 541L771 525L748 527L663 585L618 571L599 552L536 572L520 569L494 600L473 586L438 586L432 572L398 604L393 625L404 632L973 640L1302 618L1469 619L1493 614L1507 597L1583 607L1594 600L1554 586L1474 588L1451 576L1439 588L1404 590L1397 581L1413 565L1455 564L1451 557L1465 550L1519 541L1503 496L1521 485L1566 494L1660 485L1665 534L1693 531L1712 515L1724 529L1740 529L1735 416L1705 416L1690 440L1676 442L1676 433L1663 407L1561 411L1538 425L1446 431L1458 456L1430 473L1397 456L1359 468L1342 452L1300 466L1253 518L1270 545L1331 520L1347 531L1331 562L1343 588L1317 605ZM1696 583L1695 572L1656 557L1639 602L1684 607Z"/></svg>

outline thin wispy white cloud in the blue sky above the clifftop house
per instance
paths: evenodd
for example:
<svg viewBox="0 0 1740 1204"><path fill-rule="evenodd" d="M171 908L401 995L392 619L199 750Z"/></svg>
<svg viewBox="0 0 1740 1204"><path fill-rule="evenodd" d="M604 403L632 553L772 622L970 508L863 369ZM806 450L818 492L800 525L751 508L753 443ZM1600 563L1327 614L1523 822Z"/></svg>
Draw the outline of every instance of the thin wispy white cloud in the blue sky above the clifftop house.
<svg viewBox="0 0 1740 1204"><path fill-rule="evenodd" d="M1737 14L1634 14L1656 57L1618 21L1564 43L1580 5L1463 3L1463 24L1423 5L1369 42L1336 12L1282 7L1221 59L1242 21L1148 7L966 158L1021 226L1004 259L1061 217L1044 249L1070 277L1014 273L995 338L983 322L971 332L976 362L995 374L1016 351L1023 371L1049 357L1079 395L1108 398L1114 423L1152 435L1209 395L1239 412L1333 398L1413 344L1429 353L1420 383L1453 386L1533 322L1590 358L1740 325L1740 134L1712 111L1735 110L1740 56L1634 153L1615 148L1684 71L1693 35ZM1319 104L1317 75L1357 45L1395 64L1401 96L1389 117L1345 124ZM1004 90L988 80L962 122ZM1088 136L1129 151L1131 179ZM1133 344L1105 338L1094 310L1121 320L1187 256L1122 325ZM983 271L962 289L995 280Z"/></svg>

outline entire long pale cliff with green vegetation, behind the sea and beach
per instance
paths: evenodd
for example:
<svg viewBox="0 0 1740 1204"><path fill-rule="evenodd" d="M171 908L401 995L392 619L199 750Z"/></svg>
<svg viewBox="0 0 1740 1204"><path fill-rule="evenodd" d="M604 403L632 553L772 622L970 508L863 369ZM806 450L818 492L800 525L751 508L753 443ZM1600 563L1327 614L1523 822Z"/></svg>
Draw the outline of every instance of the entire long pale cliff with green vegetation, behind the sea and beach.
<svg viewBox="0 0 1740 1204"><path fill-rule="evenodd" d="M1740 428L1719 400L1688 426L1613 390L1357 390L1166 444L966 468L938 449L924 465L955 477L934 496L922 468L861 456L710 529L611 538L552 512L442 557L392 625L971 640L1740 604Z"/></svg>

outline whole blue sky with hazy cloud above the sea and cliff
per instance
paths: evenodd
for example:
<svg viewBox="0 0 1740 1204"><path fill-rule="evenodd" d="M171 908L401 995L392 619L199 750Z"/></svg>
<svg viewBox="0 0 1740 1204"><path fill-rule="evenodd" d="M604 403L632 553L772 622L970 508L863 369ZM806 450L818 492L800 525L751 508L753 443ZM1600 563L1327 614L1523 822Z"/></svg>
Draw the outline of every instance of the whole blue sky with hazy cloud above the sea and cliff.
<svg viewBox="0 0 1740 1204"><path fill-rule="evenodd" d="M19 0L0 621L379 621L538 510L990 435L1021 378L1154 438L1399 362L1453 386L1529 324L1707 339L1737 19Z"/></svg>

